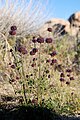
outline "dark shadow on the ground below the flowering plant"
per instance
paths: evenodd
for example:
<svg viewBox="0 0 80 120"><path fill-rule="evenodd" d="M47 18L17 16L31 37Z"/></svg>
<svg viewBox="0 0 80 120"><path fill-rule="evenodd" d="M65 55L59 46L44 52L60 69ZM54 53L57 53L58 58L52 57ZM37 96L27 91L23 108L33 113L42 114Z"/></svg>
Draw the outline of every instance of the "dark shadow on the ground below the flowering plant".
<svg viewBox="0 0 80 120"><path fill-rule="evenodd" d="M40 106L0 106L0 120L80 120L80 117L60 116Z"/></svg>

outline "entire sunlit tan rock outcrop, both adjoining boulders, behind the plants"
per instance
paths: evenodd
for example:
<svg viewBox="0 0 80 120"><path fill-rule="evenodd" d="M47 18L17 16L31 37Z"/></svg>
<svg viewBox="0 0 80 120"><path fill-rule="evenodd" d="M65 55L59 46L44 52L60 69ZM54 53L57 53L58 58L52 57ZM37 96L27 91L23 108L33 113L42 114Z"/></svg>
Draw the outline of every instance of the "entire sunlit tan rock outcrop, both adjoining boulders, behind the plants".
<svg viewBox="0 0 80 120"><path fill-rule="evenodd" d="M68 20L53 18L47 21L40 29L40 34L44 37L49 35L48 27L51 27L53 34L56 35L69 34L70 36L76 36L80 31L80 12L72 14Z"/></svg>

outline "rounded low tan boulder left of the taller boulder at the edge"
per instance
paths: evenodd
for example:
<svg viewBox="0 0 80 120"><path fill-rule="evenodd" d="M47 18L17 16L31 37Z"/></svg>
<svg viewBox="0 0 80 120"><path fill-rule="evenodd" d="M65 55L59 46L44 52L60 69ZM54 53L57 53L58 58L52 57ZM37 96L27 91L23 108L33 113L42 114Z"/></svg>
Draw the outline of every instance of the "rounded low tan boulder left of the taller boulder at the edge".
<svg viewBox="0 0 80 120"><path fill-rule="evenodd" d="M42 28L40 29L40 34L42 36L49 35L47 28L51 27L55 35L64 35L70 32L70 23L67 20L53 18L50 21L47 21Z"/></svg>

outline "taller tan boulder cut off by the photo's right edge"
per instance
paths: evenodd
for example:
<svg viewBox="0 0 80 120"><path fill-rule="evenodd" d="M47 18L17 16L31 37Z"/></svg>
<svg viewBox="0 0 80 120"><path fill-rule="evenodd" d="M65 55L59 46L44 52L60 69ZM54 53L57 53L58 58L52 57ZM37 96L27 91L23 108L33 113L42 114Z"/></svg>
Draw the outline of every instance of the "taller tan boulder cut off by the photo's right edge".
<svg viewBox="0 0 80 120"><path fill-rule="evenodd" d="M71 29L71 34L73 36L77 35L77 33L80 31L80 11L73 13L68 21L70 22L70 29Z"/></svg>

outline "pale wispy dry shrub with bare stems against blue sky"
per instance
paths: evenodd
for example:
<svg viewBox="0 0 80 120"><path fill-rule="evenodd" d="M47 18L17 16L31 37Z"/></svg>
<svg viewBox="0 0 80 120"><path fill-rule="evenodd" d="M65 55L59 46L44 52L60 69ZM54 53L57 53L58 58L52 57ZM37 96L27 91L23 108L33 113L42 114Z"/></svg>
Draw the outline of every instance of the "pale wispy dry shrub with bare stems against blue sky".
<svg viewBox="0 0 80 120"><path fill-rule="evenodd" d="M0 33L7 35L11 25L17 26L17 35L37 33L50 17L47 2L45 4L42 0L3 0L0 4Z"/></svg>

